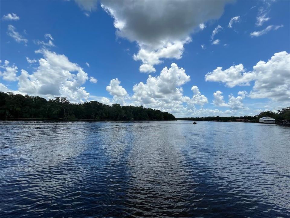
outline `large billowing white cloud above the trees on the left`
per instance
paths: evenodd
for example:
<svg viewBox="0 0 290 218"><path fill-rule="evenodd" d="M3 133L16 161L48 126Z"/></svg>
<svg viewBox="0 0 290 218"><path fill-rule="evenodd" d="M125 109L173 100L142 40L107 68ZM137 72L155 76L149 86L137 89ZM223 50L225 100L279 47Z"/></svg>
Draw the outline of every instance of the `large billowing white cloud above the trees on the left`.
<svg viewBox="0 0 290 218"><path fill-rule="evenodd" d="M39 66L33 74L21 70L20 92L43 97L64 96L73 103L87 101L89 93L81 85L88 80L88 74L78 64L70 62L64 54L46 49L36 52L43 54L43 58L38 60Z"/></svg>

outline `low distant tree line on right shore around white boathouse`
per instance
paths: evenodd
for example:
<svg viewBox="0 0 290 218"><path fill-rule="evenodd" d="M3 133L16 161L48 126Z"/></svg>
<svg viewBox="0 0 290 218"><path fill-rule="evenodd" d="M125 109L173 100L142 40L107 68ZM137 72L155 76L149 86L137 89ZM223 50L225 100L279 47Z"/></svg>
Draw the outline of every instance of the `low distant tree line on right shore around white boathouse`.
<svg viewBox="0 0 290 218"><path fill-rule="evenodd" d="M256 116L241 116L241 117L181 117L176 118L177 120L188 120L188 121L236 121L237 119L247 122L259 122L261 117L272 117L276 121L290 120L290 107L282 108L277 113L273 111L263 111Z"/></svg>

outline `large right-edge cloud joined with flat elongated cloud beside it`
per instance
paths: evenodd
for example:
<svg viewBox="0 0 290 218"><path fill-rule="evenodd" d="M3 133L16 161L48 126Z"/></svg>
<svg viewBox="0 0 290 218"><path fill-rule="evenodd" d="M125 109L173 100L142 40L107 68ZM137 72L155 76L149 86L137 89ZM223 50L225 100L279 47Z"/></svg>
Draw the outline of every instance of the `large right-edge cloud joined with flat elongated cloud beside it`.
<svg viewBox="0 0 290 218"><path fill-rule="evenodd" d="M243 64L234 65L226 70L221 67L205 75L206 81L223 82L226 86L254 86L251 98L270 98L274 101L290 101L290 54L286 51L275 53L267 62L259 61L253 71L246 72ZM238 93L244 97L247 92Z"/></svg>

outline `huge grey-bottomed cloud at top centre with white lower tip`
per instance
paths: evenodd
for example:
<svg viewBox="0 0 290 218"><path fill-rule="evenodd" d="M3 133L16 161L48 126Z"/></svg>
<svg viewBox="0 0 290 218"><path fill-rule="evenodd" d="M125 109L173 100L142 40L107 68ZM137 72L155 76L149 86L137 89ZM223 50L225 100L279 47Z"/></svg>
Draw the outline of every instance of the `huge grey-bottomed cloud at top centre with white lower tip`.
<svg viewBox="0 0 290 218"><path fill-rule="evenodd" d="M104 1L101 7L114 18L118 37L136 41L141 72L155 72L163 58L182 57L195 28L218 19L226 2L221 1ZM161 19L162 18L162 19ZM174 28L172 28L174 27Z"/></svg>

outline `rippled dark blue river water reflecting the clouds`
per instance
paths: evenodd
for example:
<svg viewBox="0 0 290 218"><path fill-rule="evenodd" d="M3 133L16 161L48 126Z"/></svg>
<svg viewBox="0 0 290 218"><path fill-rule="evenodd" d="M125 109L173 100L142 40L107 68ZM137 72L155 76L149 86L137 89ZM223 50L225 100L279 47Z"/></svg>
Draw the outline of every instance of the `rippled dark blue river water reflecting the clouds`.
<svg viewBox="0 0 290 218"><path fill-rule="evenodd" d="M2 217L290 217L290 128L1 122Z"/></svg>

